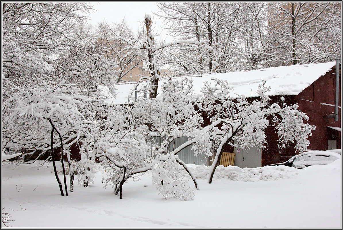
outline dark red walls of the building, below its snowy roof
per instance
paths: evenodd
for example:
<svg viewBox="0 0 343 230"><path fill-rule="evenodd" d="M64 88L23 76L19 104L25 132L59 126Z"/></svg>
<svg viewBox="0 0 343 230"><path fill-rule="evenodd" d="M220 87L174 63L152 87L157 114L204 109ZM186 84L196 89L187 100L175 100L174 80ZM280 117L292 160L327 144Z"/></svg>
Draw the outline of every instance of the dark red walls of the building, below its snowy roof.
<svg viewBox="0 0 343 230"><path fill-rule="evenodd" d="M340 76L340 75L339 75ZM308 137L310 150L328 150L341 148L341 81L339 78L339 112L335 121L335 78L336 68L320 76L298 95L286 96L288 103L299 105L299 109L309 117L308 123L316 125L316 130ZM275 100L276 98L274 98ZM277 99L276 99L277 100ZM275 151L277 135L272 127L267 133L267 147L262 150L262 166L281 163L295 155L293 146Z"/></svg>

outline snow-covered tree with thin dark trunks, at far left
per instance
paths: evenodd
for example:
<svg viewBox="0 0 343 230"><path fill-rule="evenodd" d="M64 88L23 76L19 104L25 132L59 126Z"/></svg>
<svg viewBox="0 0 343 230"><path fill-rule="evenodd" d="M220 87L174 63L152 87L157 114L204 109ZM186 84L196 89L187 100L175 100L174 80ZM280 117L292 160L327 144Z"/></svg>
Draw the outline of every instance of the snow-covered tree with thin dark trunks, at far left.
<svg viewBox="0 0 343 230"><path fill-rule="evenodd" d="M10 113L3 120L3 142L11 142L16 150L32 149L33 152L27 153L29 155L36 151L40 151L40 155L50 151L55 170L54 152L60 147L63 170L63 153L67 156L73 191L74 170L69 147L88 133L89 125L85 122L84 114L91 110L92 105L81 94L81 89L74 85L65 82L50 84L41 81L35 88L12 85L10 97L4 102L4 107Z"/></svg>

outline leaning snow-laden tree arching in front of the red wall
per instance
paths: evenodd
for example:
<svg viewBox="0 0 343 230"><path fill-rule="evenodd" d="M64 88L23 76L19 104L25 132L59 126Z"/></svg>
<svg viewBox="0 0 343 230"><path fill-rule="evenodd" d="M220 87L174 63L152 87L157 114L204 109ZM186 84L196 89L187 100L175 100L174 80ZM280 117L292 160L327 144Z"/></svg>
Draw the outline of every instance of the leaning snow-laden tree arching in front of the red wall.
<svg viewBox="0 0 343 230"><path fill-rule="evenodd" d="M309 142L306 138L311 135L315 126L304 123L308 117L297 109L297 105L285 103L282 106L277 103L271 105L270 98L265 95L270 90L270 87L265 86L265 81L257 90L259 98L247 99L245 96L231 96L234 91L226 81L213 80L214 86L205 83L202 89L204 110L210 115L212 122L216 124L220 121L212 135L212 140L217 140L219 144L212 163L209 183L212 182L224 145L241 148L263 147L264 129L270 125L267 120L270 116L276 124L275 129L280 137L280 146L284 147L288 143L295 142L297 150L307 149Z"/></svg>

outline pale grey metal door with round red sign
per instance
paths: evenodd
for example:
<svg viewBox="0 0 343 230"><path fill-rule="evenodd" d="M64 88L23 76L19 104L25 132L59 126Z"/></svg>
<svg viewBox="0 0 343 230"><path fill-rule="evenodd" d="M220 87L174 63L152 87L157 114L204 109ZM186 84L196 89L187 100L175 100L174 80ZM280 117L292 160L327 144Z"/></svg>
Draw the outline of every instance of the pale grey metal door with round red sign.
<svg viewBox="0 0 343 230"><path fill-rule="evenodd" d="M258 147L250 149L235 148L235 166L239 168L257 168L262 165L262 151Z"/></svg>

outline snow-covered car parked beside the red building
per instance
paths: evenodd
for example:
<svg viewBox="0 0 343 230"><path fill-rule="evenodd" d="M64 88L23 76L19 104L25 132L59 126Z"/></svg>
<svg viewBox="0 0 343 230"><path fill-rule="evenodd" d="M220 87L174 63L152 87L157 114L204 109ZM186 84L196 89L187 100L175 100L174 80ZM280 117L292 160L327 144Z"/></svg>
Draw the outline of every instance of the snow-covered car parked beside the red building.
<svg viewBox="0 0 343 230"><path fill-rule="evenodd" d="M277 163L277 164L272 164L268 166L285 165L289 167L303 169L311 165L328 165L337 159L341 159L341 150L340 149L334 149L334 150L335 151L332 151L332 152L330 150L308 151L308 152L295 155L291 159L283 163Z"/></svg>

